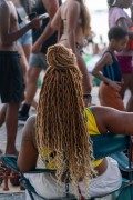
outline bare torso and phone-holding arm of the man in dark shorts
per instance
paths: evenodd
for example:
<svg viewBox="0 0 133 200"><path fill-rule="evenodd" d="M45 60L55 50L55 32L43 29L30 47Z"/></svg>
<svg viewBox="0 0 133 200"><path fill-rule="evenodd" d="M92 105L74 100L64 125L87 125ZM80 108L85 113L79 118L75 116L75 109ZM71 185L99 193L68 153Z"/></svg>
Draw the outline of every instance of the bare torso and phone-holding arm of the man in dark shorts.
<svg viewBox="0 0 133 200"><path fill-rule="evenodd" d="M29 29L38 29L40 20L40 18L34 18L29 24L19 30L16 7L11 1L0 0L0 50L16 51L16 41Z"/></svg>

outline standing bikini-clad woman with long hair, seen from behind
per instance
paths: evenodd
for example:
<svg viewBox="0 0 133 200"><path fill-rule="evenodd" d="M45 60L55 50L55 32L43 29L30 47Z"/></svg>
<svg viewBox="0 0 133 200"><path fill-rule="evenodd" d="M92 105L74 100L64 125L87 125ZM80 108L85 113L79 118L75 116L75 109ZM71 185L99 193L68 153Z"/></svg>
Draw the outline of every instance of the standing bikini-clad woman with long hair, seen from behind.
<svg viewBox="0 0 133 200"><path fill-rule="evenodd" d="M83 0L66 0L58 9L51 27L59 32L59 42L68 48L71 48L76 54L78 66L83 76L82 87L84 93L91 92L91 83L86 66L80 56L84 39L91 33L90 14ZM60 38L60 28L62 36Z"/></svg>

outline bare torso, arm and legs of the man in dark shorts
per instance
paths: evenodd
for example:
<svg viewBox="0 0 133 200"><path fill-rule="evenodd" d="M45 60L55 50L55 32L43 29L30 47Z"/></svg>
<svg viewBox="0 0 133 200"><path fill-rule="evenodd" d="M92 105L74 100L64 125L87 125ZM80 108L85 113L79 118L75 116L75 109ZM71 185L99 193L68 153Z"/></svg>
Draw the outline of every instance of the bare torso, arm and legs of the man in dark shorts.
<svg viewBox="0 0 133 200"><path fill-rule="evenodd" d="M22 29L18 29L18 16L11 1L0 0L0 51L17 51L17 40L31 28L39 28L40 19L35 18ZM7 154L18 154L16 136L18 126L19 102L8 103L0 111L0 124L6 119L7 127Z"/></svg>

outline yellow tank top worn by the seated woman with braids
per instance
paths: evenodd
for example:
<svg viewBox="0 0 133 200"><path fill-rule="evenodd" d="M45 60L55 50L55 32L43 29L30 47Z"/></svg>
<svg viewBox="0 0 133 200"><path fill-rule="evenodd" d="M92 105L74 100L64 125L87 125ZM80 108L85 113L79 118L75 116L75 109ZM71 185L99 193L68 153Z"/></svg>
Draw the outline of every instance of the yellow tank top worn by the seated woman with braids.
<svg viewBox="0 0 133 200"><path fill-rule="evenodd" d="M85 108L84 110L84 117L85 117L85 121L86 121L86 127L89 130L89 134L100 134L100 131L96 127L96 122L94 119L94 116L91 111L91 108ZM44 157L47 158L48 153L45 150L43 150ZM96 160L94 161L94 167L98 167L101 162L103 161L103 159ZM53 159L53 151L49 151L49 161L45 159L45 168L47 169L54 169L54 159Z"/></svg>

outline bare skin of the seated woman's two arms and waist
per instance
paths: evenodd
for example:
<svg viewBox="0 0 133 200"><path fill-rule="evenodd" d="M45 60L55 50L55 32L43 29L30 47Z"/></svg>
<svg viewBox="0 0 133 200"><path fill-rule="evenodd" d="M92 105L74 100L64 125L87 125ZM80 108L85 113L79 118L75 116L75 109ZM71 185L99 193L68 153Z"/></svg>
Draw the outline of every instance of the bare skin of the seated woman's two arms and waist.
<svg viewBox="0 0 133 200"><path fill-rule="evenodd" d="M133 134L133 113L117 111L108 107L92 107L93 116L96 121L98 129L101 133L108 130L114 133ZM35 144L35 116L31 117L23 130L21 149L18 157L18 167L25 172L35 169L38 160L38 149ZM106 170L106 159L95 168L98 174L102 174Z"/></svg>

